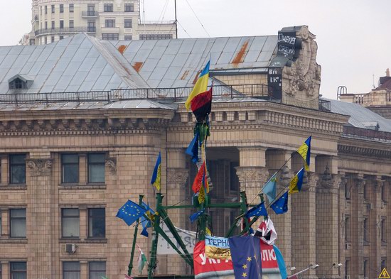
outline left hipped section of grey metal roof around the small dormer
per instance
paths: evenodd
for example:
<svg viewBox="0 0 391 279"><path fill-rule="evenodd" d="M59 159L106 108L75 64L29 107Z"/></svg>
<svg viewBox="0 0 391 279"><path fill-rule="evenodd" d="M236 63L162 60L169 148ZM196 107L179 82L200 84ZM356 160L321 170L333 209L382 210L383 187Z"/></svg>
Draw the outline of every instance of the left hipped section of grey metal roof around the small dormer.
<svg viewBox="0 0 391 279"><path fill-rule="evenodd" d="M27 93L148 87L110 43L85 34L48 45L0 47L0 93L15 75L33 80Z"/></svg>

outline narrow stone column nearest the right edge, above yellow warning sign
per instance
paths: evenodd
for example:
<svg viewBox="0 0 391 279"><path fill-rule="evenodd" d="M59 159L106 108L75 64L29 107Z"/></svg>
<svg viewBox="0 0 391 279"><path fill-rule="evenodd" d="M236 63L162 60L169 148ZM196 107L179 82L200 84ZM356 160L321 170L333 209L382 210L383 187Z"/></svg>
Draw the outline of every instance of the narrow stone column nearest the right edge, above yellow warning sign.
<svg viewBox="0 0 391 279"><path fill-rule="evenodd" d="M383 181L381 177L373 177L368 180L369 187L369 239L370 239L370 256L368 278L377 278L381 272L380 263L382 261L382 241L381 241L381 216L382 216L382 201L381 187Z"/></svg>

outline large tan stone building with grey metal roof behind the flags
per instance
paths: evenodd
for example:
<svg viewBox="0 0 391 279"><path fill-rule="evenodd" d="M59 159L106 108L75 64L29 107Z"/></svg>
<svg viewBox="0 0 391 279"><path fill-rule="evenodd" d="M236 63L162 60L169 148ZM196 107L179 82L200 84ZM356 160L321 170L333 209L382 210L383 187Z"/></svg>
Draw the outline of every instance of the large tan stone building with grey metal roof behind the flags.
<svg viewBox="0 0 391 279"><path fill-rule="evenodd" d="M286 163L282 190L303 165L297 148L312 135L301 192L286 214L270 213L286 266L316 263L304 275L314 279L377 278L390 268L391 142L382 135L391 123L369 111L382 124L363 128L368 109L319 98L321 68L306 26L161 41L78 34L0 50L1 278L123 278L134 226L115 215L139 195L154 206L149 182L159 151L164 203L191 204L196 170L184 151L195 118L183 102L209 58L212 202L232 202L240 191L256 199ZM195 231L191 212L168 214ZM238 212L208 214L210 229L224 236ZM148 255L151 234L137 243ZM158 261L157 274L191 273L178 256Z"/></svg>

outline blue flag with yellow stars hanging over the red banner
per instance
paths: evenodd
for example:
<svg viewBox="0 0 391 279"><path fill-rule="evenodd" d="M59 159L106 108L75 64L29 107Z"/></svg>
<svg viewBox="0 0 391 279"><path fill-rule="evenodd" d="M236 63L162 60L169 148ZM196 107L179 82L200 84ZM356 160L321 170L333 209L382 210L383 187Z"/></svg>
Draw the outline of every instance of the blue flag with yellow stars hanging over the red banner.
<svg viewBox="0 0 391 279"><path fill-rule="evenodd" d="M261 239L234 236L228 239L236 279L262 279Z"/></svg>

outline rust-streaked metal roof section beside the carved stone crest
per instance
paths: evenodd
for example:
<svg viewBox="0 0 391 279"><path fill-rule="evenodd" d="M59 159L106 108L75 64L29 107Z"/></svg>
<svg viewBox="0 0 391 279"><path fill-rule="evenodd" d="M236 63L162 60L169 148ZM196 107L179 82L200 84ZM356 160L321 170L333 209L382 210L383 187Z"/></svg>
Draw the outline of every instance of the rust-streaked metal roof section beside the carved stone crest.
<svg viewBox="0 0 391 279"><path fill-rule="evenodd" d="M192 87L210 58L210 75L265 72L277 35L112 41L150 87Z"/></svg>

